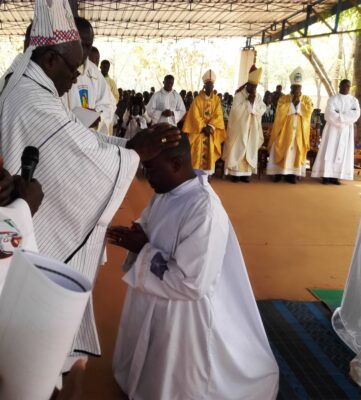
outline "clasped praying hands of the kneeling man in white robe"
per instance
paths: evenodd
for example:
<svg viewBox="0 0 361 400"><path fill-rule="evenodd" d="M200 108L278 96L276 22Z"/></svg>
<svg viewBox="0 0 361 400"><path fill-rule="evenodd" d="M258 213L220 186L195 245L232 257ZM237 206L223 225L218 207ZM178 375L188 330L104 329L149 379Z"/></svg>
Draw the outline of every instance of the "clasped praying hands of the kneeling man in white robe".
<svg viewBox="0 0 361 400"><path fill-rule="evenodd" d="M130 228L125 226L108 228L107 238L110 244L123 247L135 254L140 253L149 241L141 225L136 222L133 222Z"/></svg>

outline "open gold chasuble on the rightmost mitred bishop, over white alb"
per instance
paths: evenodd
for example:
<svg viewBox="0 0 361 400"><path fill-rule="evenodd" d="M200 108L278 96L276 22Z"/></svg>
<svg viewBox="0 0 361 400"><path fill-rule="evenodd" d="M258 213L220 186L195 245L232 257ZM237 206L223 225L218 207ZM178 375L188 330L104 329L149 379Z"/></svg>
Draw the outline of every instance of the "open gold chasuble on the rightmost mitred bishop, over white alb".
<svg viewBox="0 0 361 400"><path fill-rule="evenodd" d="M305 164L310 148L312 100L308 96L300 97L300 107L293 112L292 95L281 96L276 110L268 149L274 145L274 163L280 168L286 167L286 156L295 143L295 158L292 167L298 168Z"/></svg>

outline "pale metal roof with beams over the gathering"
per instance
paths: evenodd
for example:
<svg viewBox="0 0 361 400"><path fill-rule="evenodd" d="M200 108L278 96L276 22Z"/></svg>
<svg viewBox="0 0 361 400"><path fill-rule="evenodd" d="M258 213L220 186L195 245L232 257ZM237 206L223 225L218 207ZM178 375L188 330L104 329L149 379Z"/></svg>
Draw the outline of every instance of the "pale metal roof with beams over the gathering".
<svg viewBox="0 0 361 400"><path fill-rule="evenodd" d="M304 21L310 6L322 14L337 3L340 0L85 0L78 1L78 10L92 22L97 36L261 37L262 32L280 31L282 21L287 26ZM34 0L0 0L0 36L24 35L33 6Z"/></svg>

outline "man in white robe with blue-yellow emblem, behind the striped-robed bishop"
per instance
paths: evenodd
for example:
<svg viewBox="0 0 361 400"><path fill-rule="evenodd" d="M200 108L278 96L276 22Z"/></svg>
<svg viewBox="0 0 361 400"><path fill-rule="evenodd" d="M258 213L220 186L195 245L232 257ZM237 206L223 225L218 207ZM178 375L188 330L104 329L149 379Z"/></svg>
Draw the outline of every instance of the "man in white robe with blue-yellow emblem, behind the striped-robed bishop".
<svg viewBox="0 0 361 400"><path fill-rule="evenodd" d="M64 94L63 102L70 111L82 107L99 112L101 120L97 130L111 135L116 101L102 73L88 58L94 40L93 28L88 20L81 17L75 18L75 24L83 47L83 60L77 81Z"/></svg>

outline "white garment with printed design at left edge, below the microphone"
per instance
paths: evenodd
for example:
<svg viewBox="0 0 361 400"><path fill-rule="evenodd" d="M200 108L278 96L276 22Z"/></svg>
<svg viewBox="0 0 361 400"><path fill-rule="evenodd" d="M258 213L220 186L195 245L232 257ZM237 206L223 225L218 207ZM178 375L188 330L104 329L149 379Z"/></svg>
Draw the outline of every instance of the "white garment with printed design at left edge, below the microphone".
<svg viewBox="0 0 361 400"><path fill-rule="evenodd" d="M38 251L31 211L23 199L0 207L0 294L16 249Z"/></svg>

